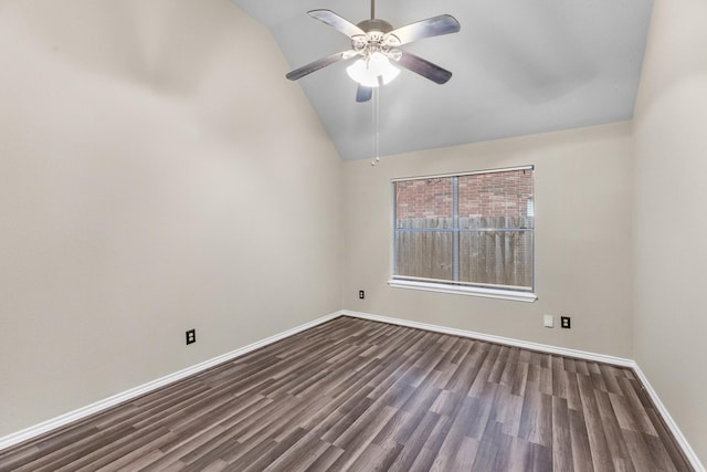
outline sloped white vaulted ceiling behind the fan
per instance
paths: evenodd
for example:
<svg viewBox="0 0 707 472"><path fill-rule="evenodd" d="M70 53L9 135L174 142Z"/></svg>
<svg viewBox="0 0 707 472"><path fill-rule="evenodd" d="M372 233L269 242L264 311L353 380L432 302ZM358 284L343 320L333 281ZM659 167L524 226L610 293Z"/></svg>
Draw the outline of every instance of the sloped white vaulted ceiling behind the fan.
<svg viewBox="0 0 707 472"><path fill-rule="evenodd" d="M292 69L350 48L307 11L333 10L352 23L370 17L368 0L233 1L272 31ZM454 75L437 85L402 70L381 88L381 156L630 119L652 7L652 0L379 0L376 17L393 28L442 13L462 24L456 34L402 48ZM292 86L303 87L341 158L370 159L372 104L356 103L347 65Z"/></svg>

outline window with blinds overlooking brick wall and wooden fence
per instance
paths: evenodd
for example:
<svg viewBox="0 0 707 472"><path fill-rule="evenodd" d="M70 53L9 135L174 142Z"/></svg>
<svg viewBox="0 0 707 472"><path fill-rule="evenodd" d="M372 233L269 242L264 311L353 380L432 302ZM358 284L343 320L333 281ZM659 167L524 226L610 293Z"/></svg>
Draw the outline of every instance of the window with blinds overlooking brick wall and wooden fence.
<svg viewBox="0 0 707 472"><path fill-rule="evenodd" d="M532 167L398 179L392 286L532 301Z"/></svg>

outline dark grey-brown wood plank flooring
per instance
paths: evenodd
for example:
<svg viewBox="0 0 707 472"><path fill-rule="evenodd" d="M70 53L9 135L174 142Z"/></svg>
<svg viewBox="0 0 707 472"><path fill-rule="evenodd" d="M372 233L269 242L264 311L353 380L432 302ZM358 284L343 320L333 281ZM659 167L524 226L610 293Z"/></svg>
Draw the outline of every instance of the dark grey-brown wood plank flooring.
<svg viewBox="0 0 707 472"><path fill-rule="evenodd" d="M0 471L689 471L632 370L338 317Z"/></svg>

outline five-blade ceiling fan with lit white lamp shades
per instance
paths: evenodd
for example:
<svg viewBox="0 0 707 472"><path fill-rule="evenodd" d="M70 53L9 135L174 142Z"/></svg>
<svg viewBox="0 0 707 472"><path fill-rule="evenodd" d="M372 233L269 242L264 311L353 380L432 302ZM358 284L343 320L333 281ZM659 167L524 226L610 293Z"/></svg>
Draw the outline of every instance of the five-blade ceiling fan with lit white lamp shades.
<svg viewBox="0 0 707 472"><path fill-rule="evenodd" d="M371 0L370 20L363 20L358 24L351 23L330 10L312 10L307 14L346 34L351 40L351 49L321 57L289 72L286 77L291 81L302 78L336 62L359 57L347 69L347 72L358 82L356 101L368 102L374 87L387 84L400 72L392 63L436 84L444 84L452 77L450 71L398 49L424 38L456 33L461 29L460 23L450 14L428 18L398 29L393 29L388 21L376 18L376 0Z"/></svg>

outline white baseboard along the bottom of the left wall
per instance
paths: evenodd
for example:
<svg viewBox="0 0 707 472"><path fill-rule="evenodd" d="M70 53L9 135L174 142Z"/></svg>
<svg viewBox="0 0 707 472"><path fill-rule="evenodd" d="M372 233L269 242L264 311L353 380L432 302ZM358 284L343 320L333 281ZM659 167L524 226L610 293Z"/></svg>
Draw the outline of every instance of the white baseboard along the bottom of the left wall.
<svg viewBox="0 0 707 472"><path fill-rule="evenodd" d="M107 408L110 407L115 407L118 403L122 403L124 401L127 400L131 400L136 397L139 397L140 395L145 395L148 394L152 390L156 390L160 387L163 387L168 384L172 384L177 380L181 380L183 378L187 378L189 376L192 376L194 374L199 374L200 371L203 371L205 369L209 369L211 367L214 367L219 364L232 360L239 356L242 356L244 354L247 354L252 350L258 349L263 346L267 346L268 344L275 343L277 340L284 339L288 336L295 335L299 332L303 332L305 329L308 329L310 327L314 327L316 325L319 325L321 323L326 323L330 319L334 319L338 316L341 316L341 312L336 312L333 313L330 315L327 316L323 316L320 318L317 318L313 322L309 323L305 323L303 325L296 326L292 329L287 329L285 332L278 333L274 336L271 336L268 338L258 340L256 343L253 344L249 344L247 346L241 347L240 349L235 349L232 350L230 353L223 354L221 356L214 357L212 359L209 360L204 360L203 363L197 364L194 366L188 367L186 369L176 371L173 374L169 374L165 377L158 378L157 380L152 380L149 381L147 384L140 385L138 387L131 388L129 390L126 390L122 394L116 394L112 397L105 398L103 400L96 401L95 403L88 405L86 407L83 408L78 408L77 410L74 411L70 411L67 413L61 415L56 418L52 418L48 421L41 422L39 424L32 426L30 428L23 429L21 431L11 433L9 436L2 437L0 438L0 451L2 451L3 449L10 448L12 445L19 444L20 442L27 441L29 439L32 438L36 438L40 434L43 434L45 432L52 431L54 429L61 428L63 426L66 426L71 422L81 420L83 418L86 418L91 415L97 413L99 411L103 411Z"/></svg>

